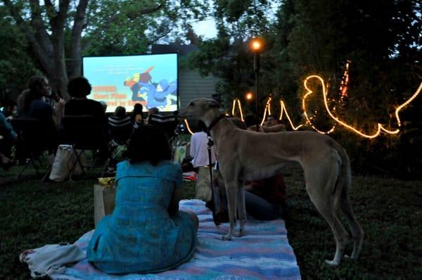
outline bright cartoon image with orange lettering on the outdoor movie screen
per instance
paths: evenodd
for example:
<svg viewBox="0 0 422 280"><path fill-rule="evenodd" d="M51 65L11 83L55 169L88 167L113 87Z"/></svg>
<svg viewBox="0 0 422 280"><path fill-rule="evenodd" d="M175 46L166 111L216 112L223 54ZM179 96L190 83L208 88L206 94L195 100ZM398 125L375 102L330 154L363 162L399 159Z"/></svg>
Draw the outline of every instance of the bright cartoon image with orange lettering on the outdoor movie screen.
<svg viewBox="0 0 422 280"><path fill-rule="evenodd" d="M88 98L106 101L107 112L117 106L132 111L135 103L143 110L177 110L177 53L139 56L86 56L82 68L92 86Z"/></svg>

